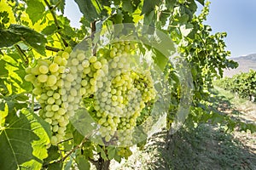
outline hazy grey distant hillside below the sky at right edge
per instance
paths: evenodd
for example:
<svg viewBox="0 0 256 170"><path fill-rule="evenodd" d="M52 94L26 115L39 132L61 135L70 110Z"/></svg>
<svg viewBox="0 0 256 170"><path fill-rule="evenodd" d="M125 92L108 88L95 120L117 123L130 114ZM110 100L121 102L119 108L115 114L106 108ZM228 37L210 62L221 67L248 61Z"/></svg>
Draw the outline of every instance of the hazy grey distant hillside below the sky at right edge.
<svg viewBox="0 0 256 170"><path fill-rule="evenodd" d="M236 61L239 66L236 69L224 70L224 77L232 77L239 72L247 72L250 69L256 70L256 54L249 54L237 58L230 58Z"/></svg>

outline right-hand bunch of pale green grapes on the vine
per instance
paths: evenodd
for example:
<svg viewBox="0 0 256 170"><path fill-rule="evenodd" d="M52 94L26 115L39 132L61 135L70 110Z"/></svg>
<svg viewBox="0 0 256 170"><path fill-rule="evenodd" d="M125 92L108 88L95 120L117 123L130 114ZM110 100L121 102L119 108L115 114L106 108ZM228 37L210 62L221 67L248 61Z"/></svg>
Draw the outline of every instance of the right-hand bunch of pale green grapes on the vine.
<svg viewBox="0 0 256 170"><path fill-rule="evenodd" d="M154 99L154 81L150 71L138 73L131 67L129 55L134 50L130 42L114 43L105 55L108 75L96 78L94 109L106 142L118 138L119 144L131 145L137 116L145 102Z"/></svg>

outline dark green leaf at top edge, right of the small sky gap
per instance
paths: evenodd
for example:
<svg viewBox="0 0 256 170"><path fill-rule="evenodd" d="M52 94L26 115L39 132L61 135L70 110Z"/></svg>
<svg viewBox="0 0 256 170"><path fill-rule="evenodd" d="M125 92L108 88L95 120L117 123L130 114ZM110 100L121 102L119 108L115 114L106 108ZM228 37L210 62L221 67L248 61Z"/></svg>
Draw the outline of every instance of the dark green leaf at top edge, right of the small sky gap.
<svg viewBox="0 0 256 170"><path fill-rule="evenodd" d="M100 18L100 14L97 13L96 7L93 5L90 0L75 0L79 5L79 9L82 14L84 14L84 18L89 22L93 22Z"/></svg>

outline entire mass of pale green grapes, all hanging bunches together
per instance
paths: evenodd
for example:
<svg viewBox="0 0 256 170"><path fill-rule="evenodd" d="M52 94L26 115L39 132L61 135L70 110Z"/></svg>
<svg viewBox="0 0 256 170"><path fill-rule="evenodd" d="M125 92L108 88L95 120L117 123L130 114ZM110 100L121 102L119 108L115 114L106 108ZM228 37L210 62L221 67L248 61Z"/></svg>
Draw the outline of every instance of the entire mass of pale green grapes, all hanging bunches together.
<svg viewBox="0 0 256 170"><path fill-rule="evenodd" d="M34 85L32 92L42 106L40 116L51 125L51 144L61 142L69 117L88 98L93 100L89 112L100 125L102 138L132 144L137 117L155 98L150 71L139 71L131 62L134 50L131 42L115 42L108 53L96 55L67 48L27 69L26 81Z"/></svg>

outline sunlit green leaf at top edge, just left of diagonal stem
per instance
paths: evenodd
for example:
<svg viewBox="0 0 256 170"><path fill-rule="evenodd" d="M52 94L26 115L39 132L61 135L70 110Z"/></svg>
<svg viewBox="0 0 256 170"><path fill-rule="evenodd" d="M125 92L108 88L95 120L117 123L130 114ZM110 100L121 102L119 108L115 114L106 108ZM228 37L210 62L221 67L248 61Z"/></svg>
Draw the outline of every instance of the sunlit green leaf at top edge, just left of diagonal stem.
<svg viewBox="0 0 256 170"><path fill-rule="evenodd" d="M38 20L42 19L45 11L44 3L38 0L27 0L26 5L26 14L29 15L32 24L35 24Z"/></svg>

